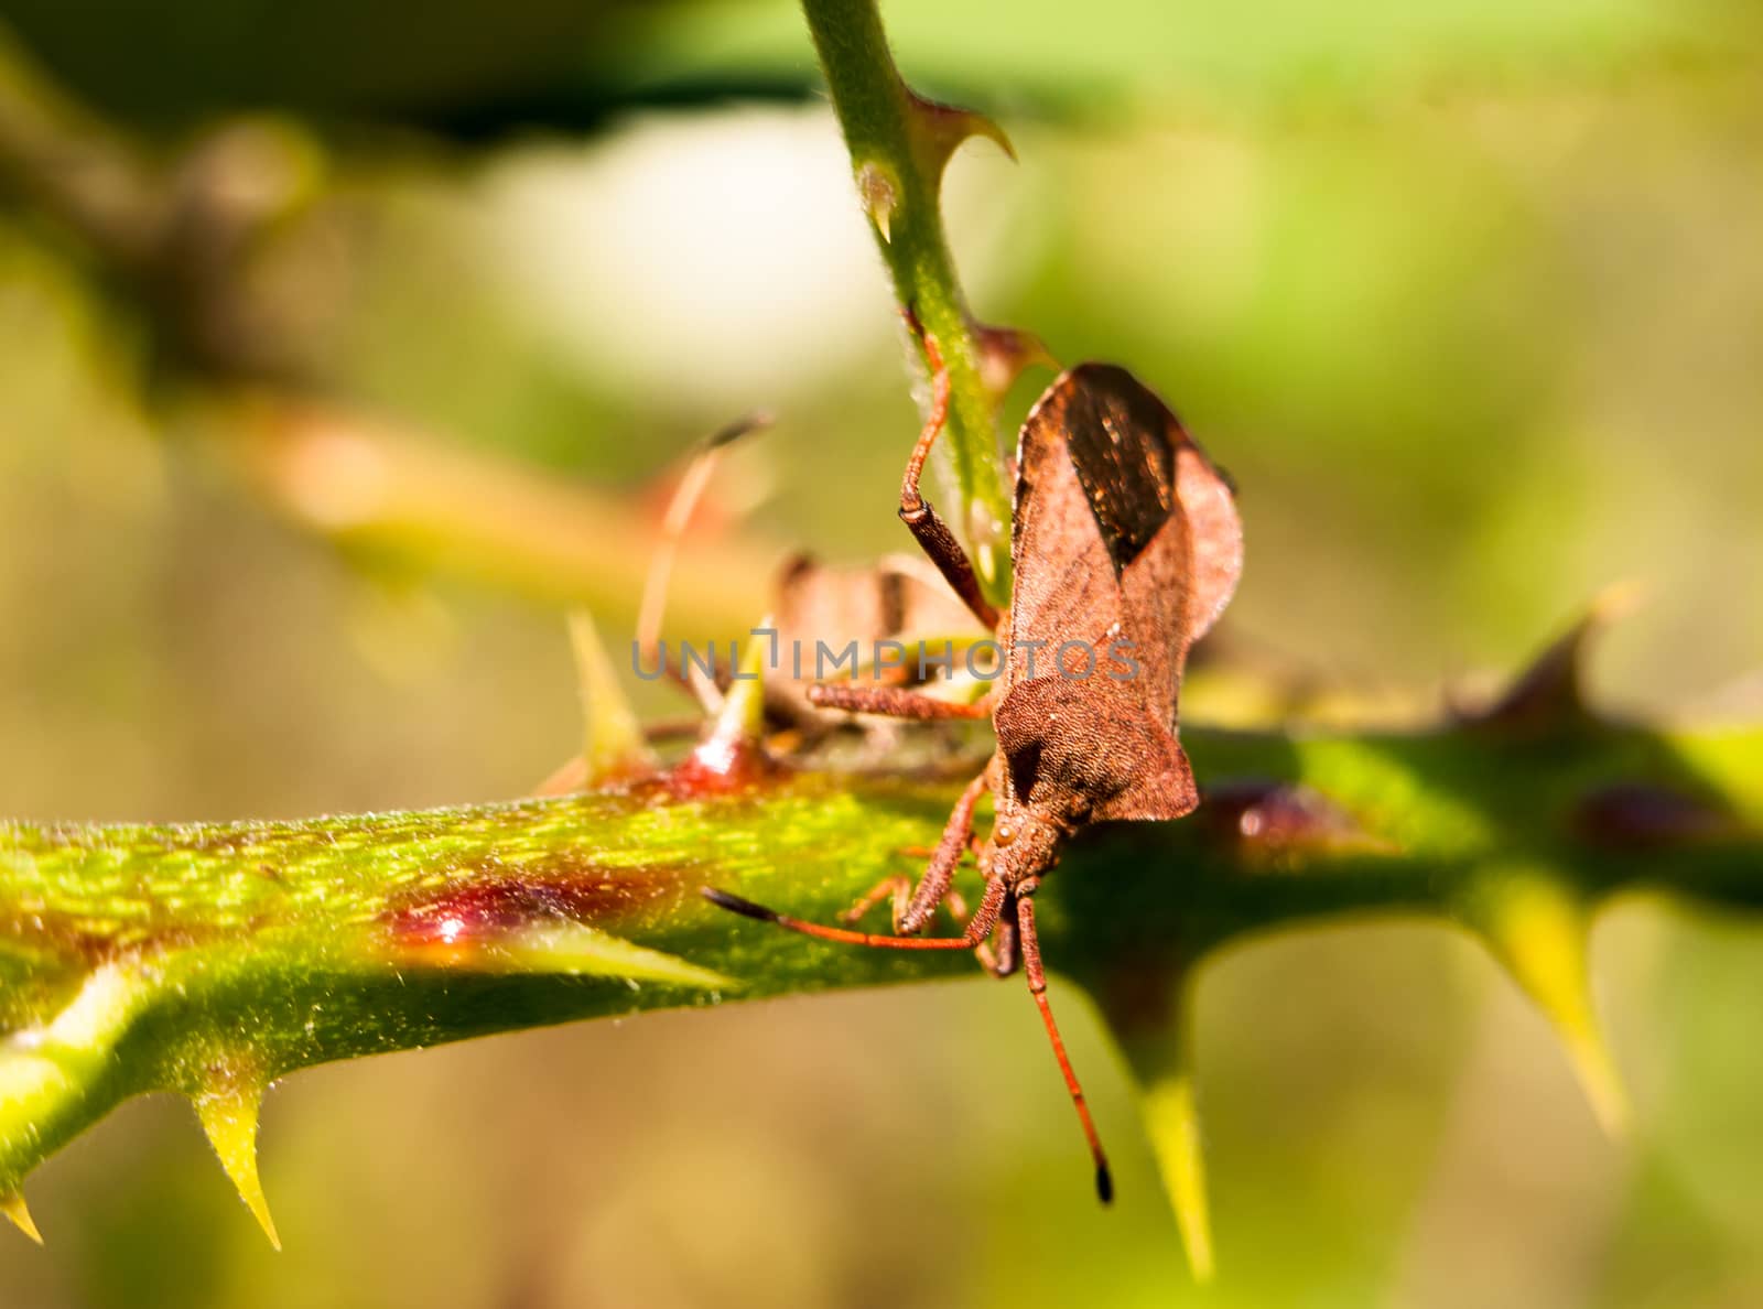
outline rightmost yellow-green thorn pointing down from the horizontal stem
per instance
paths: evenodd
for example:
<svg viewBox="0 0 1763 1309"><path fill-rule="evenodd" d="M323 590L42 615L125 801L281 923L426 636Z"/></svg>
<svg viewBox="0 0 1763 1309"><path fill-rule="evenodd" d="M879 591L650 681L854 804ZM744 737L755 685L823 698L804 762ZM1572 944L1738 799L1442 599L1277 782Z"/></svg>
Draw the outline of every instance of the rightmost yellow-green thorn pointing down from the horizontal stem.
<svg viewBox="0 0 1763 1309"><path fill-rule="evenodd" d="M1476 919L1495 958L1560 1036L1599 1126L1624 1136L1629 1096L1592 1002L1585 907L1543 877L1518 875L1500 880Z"/></svg>

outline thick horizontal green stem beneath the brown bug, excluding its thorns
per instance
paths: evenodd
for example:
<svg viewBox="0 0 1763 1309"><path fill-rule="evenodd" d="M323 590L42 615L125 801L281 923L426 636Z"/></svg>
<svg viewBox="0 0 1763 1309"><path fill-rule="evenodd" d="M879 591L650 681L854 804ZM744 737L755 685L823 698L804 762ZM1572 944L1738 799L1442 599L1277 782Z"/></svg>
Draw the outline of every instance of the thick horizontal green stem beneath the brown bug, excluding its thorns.
<svg viewBox="0 0 1763 1309"><path fill-rule="evenodd" d="M1641 887L1763 903L1763 727L1185 739L1216 796L1294 783L1333 817L1257 842L1213 801L1211 817L1074 843L1038 898L1045 953L1128 1044L1165 1021L1146 1013L1146 977L1174 988L1245 933L1425 914L1504 958L1514 942L1488 907L1509 887L1587 907ZM698 894L830 921L917 871L906 850L934 840L959 787L797 773L698 797L651 782L310 822L0 824L0 1200L148 1090L201 1099L575 1018L977 976L959 951L807 940ZM1611 794L1631 812L1587 831L1587 804Z"/></svg>

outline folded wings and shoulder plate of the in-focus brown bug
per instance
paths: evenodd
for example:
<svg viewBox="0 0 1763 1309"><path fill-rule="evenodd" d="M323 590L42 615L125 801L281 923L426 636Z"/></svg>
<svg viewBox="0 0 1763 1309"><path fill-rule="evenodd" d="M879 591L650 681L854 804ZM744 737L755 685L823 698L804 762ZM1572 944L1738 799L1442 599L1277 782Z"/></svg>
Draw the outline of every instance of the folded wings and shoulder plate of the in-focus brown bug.
<svg viewBox="0 0 1763 1309"><path fill-rule="evenodd" d="M1012 526L1015 595L996 714L1007 790L1045 769L1068 773L1097 819L1186 813L1195 792L1176 741L1181 669L1243 565L1229 482L1130 372L1086 363L1054 381L1023 423ZM1028 640L1047 646L1031 654ZM1060 677L1063 640L1093 651L1082 695L1037 684ZM1120 669L1118 649L1134 665L1127 679L1104 672Z"/></svg>

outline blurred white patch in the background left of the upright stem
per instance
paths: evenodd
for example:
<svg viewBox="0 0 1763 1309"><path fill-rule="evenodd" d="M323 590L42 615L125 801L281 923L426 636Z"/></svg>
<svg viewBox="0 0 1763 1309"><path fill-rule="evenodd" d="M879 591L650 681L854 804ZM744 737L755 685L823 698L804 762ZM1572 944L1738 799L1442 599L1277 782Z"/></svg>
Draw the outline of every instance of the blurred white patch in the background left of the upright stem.
<svg viewBox="0 0 1763 1309"><path fill-rule="evenodd" d="M823 106L643 118L520 155L488 199L527 321L606 390L730 408L850 367L890 333Z"/></svg>

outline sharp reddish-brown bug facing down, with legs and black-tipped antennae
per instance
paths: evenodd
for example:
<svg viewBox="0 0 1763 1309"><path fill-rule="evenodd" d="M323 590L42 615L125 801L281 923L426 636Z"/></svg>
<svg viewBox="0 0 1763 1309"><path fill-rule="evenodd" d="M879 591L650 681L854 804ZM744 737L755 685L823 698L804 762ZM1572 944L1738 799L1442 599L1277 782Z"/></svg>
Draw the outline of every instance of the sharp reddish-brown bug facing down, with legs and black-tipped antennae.
<svg viewBox="0 0 1763 1309"><path fill-rule="evenodd" d="M1097 1191L1109 1200L1107 1159L1065 1055L1035 935L1035 891L1061 843L1093 822L1179 819L1199 803L1176 739L1188 647L1231 600L1243 566L1243 529L1231 483L1179 420L1125 369L1084 363L1060 376L1017 439L1010 557L1014 598L996 612L954 533L919 494L941 430L948 378L934 342L934 402L901 489L901 519L956 595L1001 637L1003 676L977 704L897 686L816 684L818 706L899 718L991 714L998 748L968 783L896 931L880 935L806 923L705 887L718 905L825 940L890 949L964 949L991 942L993 967L1028 988L1065 1074ZM986 893L961 937L917 937L950 894L986 790L996 797L978 850Z"/></svg>

